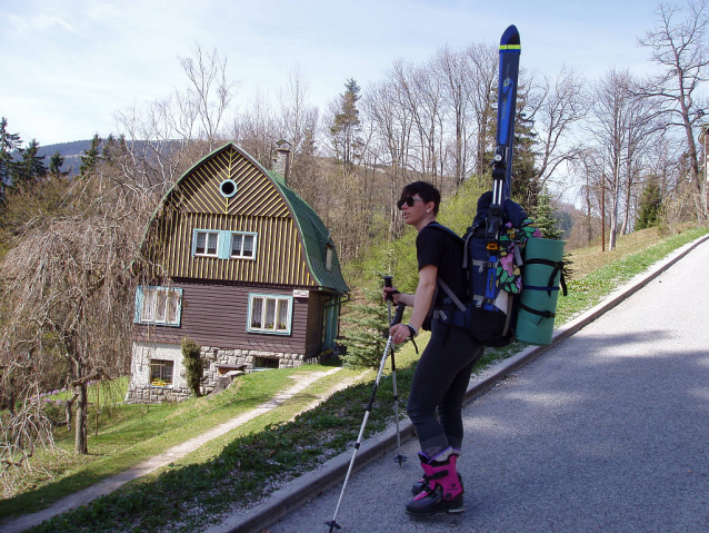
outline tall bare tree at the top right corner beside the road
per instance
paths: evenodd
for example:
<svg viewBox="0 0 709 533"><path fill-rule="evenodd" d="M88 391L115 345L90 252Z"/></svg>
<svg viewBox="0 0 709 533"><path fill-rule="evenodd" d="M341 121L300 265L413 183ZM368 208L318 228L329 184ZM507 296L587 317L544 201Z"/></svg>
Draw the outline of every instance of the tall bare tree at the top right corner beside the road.
<svg viewBox="0 0 709 533"><path fill-rule="evenodd" d="M709 50L705 38L709 16L706 0L689 0L687 8L687 16L678 20L681 7L665 3L658 7L658 24L646 33L640 45L650 49L652 61L662 67L663 72L648 77L639 93L659 99L662 112L670 117L670 126L682 129L697 217L706 223L709 219L707 182L700 176L696 136L707 107L698 92L707 80Z"/></svg>

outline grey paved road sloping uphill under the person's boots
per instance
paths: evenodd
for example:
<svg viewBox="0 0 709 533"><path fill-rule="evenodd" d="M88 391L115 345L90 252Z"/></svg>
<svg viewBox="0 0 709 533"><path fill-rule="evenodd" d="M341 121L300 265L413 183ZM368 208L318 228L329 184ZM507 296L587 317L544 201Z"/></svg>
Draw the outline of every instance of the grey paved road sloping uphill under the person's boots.
<svg viewBox="0 0 709 533"><path fill-rule="evenodd" d="M410 441L352 475L342 532L709 532L708 266L705 241L465 408L466 513L403 513ZM339 494L264 531L327 533Z"/></svg>

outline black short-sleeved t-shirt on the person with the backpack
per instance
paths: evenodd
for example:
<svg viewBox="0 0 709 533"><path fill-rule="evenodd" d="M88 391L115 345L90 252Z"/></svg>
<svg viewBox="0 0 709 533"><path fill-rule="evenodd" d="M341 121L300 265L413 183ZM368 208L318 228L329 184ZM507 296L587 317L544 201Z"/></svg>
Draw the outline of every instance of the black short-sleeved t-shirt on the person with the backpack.
<svg viewBox="0 0 709 533"><path fill-rule="evenodd" d="M416 253L419 270L428 265L438 267L438 277L453 292L461 302L468 298L466 275L462 269L463 241L442 228L426 226L416 237ZM446 292L439 287L435 307L440 307Z"/></svg>

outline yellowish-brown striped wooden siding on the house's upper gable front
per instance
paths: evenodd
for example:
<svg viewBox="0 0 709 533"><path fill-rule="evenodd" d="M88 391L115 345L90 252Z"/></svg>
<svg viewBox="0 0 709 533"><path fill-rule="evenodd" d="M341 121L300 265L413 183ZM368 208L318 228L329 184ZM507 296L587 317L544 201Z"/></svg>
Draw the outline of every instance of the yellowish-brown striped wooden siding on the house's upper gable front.
<svg viewBox="0 0 709 533"><path fill-rule="evenodd" d="M237 184L231 198L219 191L226 179ZM192 256L193 229L256 233L256 260ZM171 278L317 286L287 203L270 178L232 146L180 180L154 218L147 241L147 255Z"/></svg>

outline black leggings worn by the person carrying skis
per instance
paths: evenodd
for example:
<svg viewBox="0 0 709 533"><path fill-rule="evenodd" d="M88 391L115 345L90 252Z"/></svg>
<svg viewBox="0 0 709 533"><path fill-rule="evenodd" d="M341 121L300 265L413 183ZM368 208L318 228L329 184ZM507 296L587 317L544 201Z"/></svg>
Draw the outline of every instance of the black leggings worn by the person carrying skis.
<svg viewBox="0 0 709 533"><path fill-rule="evenodd" d="M407 403L421 451L429 457L448 446L460 450L462 399L472 367L483 352L485 346L476 343L468 332L433 320L431 338L413 373Z"/></svg>

